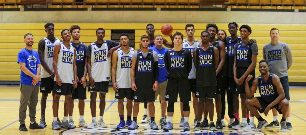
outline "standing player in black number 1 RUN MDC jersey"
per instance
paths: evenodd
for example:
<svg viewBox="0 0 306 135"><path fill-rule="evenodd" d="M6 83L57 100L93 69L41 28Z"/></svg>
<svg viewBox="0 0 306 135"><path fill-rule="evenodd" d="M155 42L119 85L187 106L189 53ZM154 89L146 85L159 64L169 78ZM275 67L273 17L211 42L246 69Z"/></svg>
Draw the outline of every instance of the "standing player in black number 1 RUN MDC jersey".
<svg viewBox="0 0 306 135"><path fill-rule="evenodd" d="M202 126L201 117L204 108L207 108L209 112L209 129L216 131L217 128L213 121L214 119L214 103L213 98L216 93L216 69L218 69L219 63L219 51L218 48L211 46L209 43L211 34L208 31L201 32L202 44L193 51L193 63L196 67L196 97L199 98L198 113L199 120L194 127L194 130L200 130L205 128ZM206 100L206 101L205 101ZM219 120L220 122L220 120ZM221 123L221 122L220 122ZM221 125L222 128L222 125Z"/></svg>

